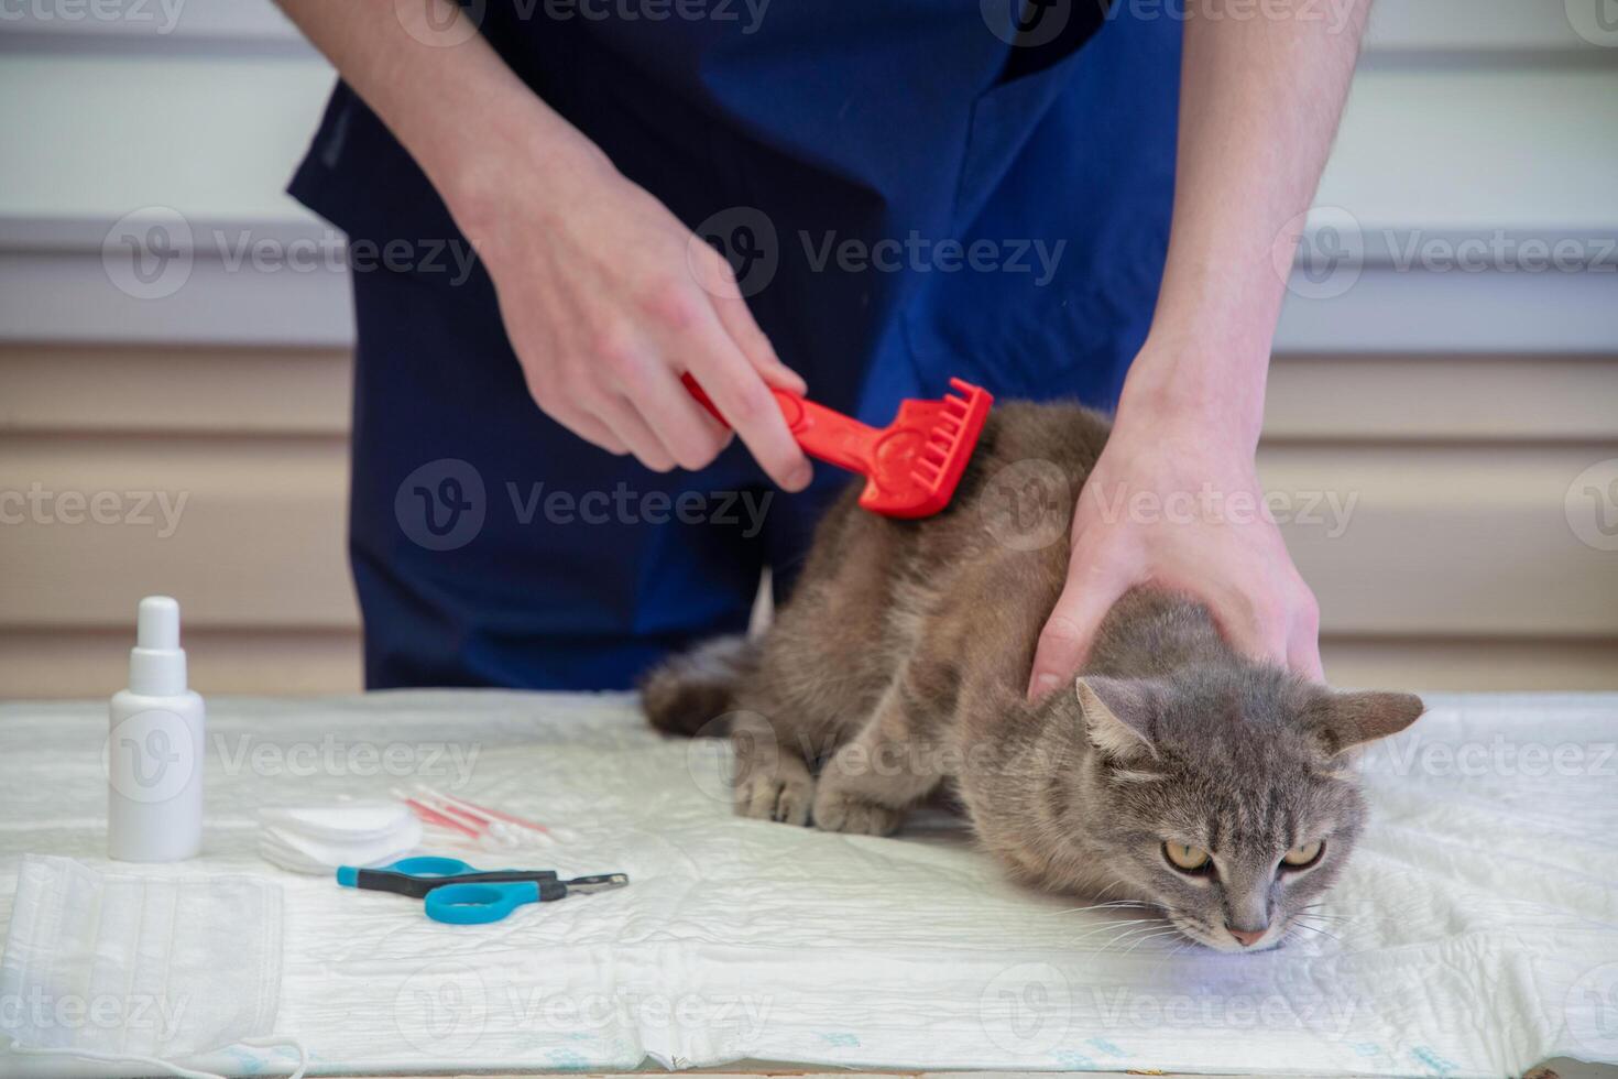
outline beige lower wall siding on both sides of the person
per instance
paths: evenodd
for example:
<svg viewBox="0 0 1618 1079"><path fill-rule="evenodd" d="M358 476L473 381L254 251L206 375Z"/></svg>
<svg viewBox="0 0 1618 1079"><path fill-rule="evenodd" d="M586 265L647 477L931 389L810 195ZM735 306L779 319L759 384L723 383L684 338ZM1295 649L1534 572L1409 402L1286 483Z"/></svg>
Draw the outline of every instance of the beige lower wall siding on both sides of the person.
<svg viewBox="0 0 1618 1079"><path fill-rule="evenodd" d="M129 492L181 505L172 535L159 508L97 524L71 503L0 527L0 696L115 689L149 590L184 605L204 691L358 688L348 367L341 349L0 348L0 492L116 492L104 518ZM1332 676L1618 688L1618 555L1565 505L1618 458L1615 401L1613 358L1280 358L1262 471L1299 511L1322 500L1288 542Z"/></svg>

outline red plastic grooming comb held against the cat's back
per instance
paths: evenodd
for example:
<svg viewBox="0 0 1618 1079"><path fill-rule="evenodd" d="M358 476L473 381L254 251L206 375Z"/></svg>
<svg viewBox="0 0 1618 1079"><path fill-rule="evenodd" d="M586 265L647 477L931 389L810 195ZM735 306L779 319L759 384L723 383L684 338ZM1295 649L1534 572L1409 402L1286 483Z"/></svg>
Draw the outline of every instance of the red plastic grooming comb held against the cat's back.
<svg viewBox="0 0 1618 1079"><path fill-rule="evenodd" d="M723 424L702 387L691 375L684 383ZM995 401L959 379L950 379L950 388L940 401L900 401L887 427L867 427L791 390L772 393L804 453L866 477L861 506L888 518L930 518L950 505Z"/></svg>

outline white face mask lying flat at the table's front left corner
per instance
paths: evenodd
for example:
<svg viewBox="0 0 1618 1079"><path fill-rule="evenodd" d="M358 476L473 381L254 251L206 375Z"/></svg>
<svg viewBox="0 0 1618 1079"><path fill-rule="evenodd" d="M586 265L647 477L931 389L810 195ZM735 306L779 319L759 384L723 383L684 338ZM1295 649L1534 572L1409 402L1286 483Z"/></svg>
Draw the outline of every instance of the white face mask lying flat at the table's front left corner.
<svg viewBox="0 0 1618 1079"><path fill-rule="evenodd" d="M0 959L0 1034L13 1053L199 1074L163 1058L294 1045L262 1037L275 1027L280 980L280 885L99 874L31 854Z"/></svg>

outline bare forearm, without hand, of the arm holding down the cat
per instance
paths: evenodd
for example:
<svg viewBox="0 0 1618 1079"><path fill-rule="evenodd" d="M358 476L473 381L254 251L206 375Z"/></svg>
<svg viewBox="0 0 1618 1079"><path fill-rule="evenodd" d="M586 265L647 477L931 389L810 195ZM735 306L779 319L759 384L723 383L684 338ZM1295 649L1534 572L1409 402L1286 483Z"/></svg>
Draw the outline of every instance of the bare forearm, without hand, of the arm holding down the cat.
<svg viewBox="0 0 1618 1079"><path fill-rule="evenodd" d="M1370 6L1345 2L1186 3L1168 264L1120 416L1191 413L1257 443L1285 298L1273 246L1314 197Z"/></svg>

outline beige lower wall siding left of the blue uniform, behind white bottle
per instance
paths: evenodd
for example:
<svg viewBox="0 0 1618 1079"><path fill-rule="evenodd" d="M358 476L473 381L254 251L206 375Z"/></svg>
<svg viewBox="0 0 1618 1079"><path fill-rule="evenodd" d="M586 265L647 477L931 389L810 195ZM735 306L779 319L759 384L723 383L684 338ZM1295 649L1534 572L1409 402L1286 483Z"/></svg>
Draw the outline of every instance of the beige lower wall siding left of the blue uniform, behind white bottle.
<svg viewBox="0 0 1618 1079"><path fill-rule="evenodd" d="M0 348L0 492L57 495L0 524L0 697L116 689L149 592L202 691L359 689L348 383L341 349Z"/></svg>

